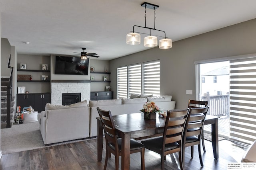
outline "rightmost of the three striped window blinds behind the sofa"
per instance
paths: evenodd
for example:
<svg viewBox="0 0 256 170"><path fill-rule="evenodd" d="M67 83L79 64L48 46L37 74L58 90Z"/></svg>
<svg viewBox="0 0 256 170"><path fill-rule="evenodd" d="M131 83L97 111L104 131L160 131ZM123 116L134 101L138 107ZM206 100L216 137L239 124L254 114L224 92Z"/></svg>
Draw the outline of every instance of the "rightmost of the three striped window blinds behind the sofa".
<svg viewBox="0 0 256 170"><path fill-rule="evenodd" d="M160 95L160 61L143 63L143 93Z"/></svg>

